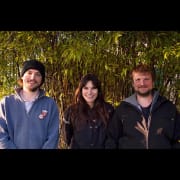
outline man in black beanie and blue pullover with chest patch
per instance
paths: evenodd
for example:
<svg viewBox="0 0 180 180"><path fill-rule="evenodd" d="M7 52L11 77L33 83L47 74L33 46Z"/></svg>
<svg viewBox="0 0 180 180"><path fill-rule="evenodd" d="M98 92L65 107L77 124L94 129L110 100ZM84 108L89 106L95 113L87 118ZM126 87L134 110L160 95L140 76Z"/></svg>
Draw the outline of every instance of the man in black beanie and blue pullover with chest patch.
<svg viewBox="0 0 180 180"><path fill-rule="evenodd" d="M59 110L40 87L45 66L37 60L23 63L15 94L0 102L0 149L57 149Z"/></svg>

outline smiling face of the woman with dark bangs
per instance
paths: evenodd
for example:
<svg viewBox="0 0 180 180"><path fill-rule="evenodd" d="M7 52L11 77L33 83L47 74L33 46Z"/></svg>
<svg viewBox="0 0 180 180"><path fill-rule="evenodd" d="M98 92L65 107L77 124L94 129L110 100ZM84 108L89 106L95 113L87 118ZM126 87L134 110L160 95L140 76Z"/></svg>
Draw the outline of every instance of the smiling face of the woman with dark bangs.
<svg viewBox="0 0 180 180"><path fill-rule="evenodd" d="M93 107L94 102L98 97L98 89L93 85L92 81L88 81L82 88L82 97L90 107Z"/></svg>

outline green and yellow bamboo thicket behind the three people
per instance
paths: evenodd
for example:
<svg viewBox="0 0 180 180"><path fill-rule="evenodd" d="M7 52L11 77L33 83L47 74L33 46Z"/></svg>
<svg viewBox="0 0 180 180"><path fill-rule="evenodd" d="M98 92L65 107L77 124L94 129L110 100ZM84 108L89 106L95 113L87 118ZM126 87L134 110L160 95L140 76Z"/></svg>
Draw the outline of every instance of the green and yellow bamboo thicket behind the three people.
<svg viewBox="0 0 180 180"><path fill-rule="evenodd" d="M46 66L43 88L61 121L83 75L96 74L105 99L117 106L132 94L129 71L139 62L154 68L156 88L180 110L178 31L0 31L0 98L14 93L23 61L34 58Z"/></svg>

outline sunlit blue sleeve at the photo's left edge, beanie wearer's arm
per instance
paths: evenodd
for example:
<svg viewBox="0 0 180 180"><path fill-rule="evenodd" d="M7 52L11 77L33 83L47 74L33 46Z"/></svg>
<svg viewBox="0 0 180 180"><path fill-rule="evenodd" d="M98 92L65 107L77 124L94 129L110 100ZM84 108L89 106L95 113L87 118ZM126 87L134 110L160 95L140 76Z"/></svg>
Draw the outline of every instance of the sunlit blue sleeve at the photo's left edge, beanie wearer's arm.
<svg viewBox="0 0 180 180"><path fill-rule="evenodd" d="M9 136L7 119L5 116L5 99L0 102L0 149L16 149Z"/></svg>

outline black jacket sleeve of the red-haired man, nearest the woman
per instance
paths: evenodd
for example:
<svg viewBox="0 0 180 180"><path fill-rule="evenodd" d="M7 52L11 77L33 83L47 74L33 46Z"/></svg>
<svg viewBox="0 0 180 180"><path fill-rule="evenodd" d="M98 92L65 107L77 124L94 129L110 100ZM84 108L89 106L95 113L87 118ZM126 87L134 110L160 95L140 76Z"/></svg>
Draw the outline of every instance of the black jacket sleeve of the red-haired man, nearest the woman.
<svg viewBox="0 0 180 180"><path fill-rule="evenodd" d="M105 143L106 149L118 148L119 138L122 135L122 123L120 118L119 107L114 111L107 127L107 140Z"/></svg>

